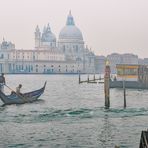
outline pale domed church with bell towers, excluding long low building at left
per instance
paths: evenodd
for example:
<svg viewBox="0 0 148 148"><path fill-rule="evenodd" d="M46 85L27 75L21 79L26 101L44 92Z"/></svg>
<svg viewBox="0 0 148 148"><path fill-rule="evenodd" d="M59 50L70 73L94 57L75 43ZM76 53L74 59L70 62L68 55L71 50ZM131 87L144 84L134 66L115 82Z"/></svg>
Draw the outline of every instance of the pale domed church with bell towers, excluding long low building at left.
<svg viewBox="0 0 148 148"><path fill-rule="evenodd" d="M64 54L67 63L74 62L79 65L81 71L94 71L95 55L87 47L84 47L82 32L75 25L71 11L69 11L65 26L59 33L58 42L56 42L56 37L52 33L49 24L44 27L42 33L39 27L36 27L35 48L39 50L53 49L53 51Z"/></svg>

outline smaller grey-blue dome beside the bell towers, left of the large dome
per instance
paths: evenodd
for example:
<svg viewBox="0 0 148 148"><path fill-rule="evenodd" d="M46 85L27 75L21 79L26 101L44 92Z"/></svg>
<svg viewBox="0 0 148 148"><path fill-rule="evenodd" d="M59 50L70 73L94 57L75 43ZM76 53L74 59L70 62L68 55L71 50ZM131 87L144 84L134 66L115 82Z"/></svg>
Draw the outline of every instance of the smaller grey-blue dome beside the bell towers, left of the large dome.
<svg viewBox="0 0 148 148"><path fill-rule="evenodd" d="M42 42L55 42L56 37L55 35L51 32L50 26L48 24L47 28L44 27L43 33L42 33Z"/></svg>

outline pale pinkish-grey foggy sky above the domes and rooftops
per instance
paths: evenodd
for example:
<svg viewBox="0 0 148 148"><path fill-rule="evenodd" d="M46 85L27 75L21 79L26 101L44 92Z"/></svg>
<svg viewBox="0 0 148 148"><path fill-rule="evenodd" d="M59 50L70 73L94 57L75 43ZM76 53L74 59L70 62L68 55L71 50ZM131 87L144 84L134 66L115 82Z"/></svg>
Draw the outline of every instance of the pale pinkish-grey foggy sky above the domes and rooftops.
<svg viewBox="0 0 148 148"><path fill-rule="evenodd" d="M0 0L0 42L33 49L36 25L48 23L58 40L69 10L97 55L148 57L148 0Z"/></svg>

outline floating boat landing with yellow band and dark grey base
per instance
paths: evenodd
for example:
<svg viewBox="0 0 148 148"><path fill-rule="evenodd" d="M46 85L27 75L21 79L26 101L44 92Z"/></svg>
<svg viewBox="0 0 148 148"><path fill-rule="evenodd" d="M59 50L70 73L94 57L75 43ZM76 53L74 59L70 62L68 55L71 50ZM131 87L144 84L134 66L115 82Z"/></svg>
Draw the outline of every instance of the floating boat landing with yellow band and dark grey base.
<svg viewBox="0 0 148 148"><path fill-rule="evenodd" d="M117 76L110 81L110 88L148 89L148 68L146 65L117 64Z"/></svg>

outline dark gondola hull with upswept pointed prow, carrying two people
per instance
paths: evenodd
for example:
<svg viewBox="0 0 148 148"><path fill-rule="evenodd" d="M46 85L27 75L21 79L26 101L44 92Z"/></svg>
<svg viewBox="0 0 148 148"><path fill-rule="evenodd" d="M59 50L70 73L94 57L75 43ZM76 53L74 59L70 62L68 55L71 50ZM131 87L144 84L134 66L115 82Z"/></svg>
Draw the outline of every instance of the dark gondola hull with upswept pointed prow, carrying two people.
<svg viewBox="0 0 148 148"><path fill-rule="evenodd" d="M4 105L32 103L43 94L45 87L46 82L41 89L24 94L16 94L15 92L13 92L10 95L5 95L2 91L0 91L0 99L2 100Z"/></svg>

